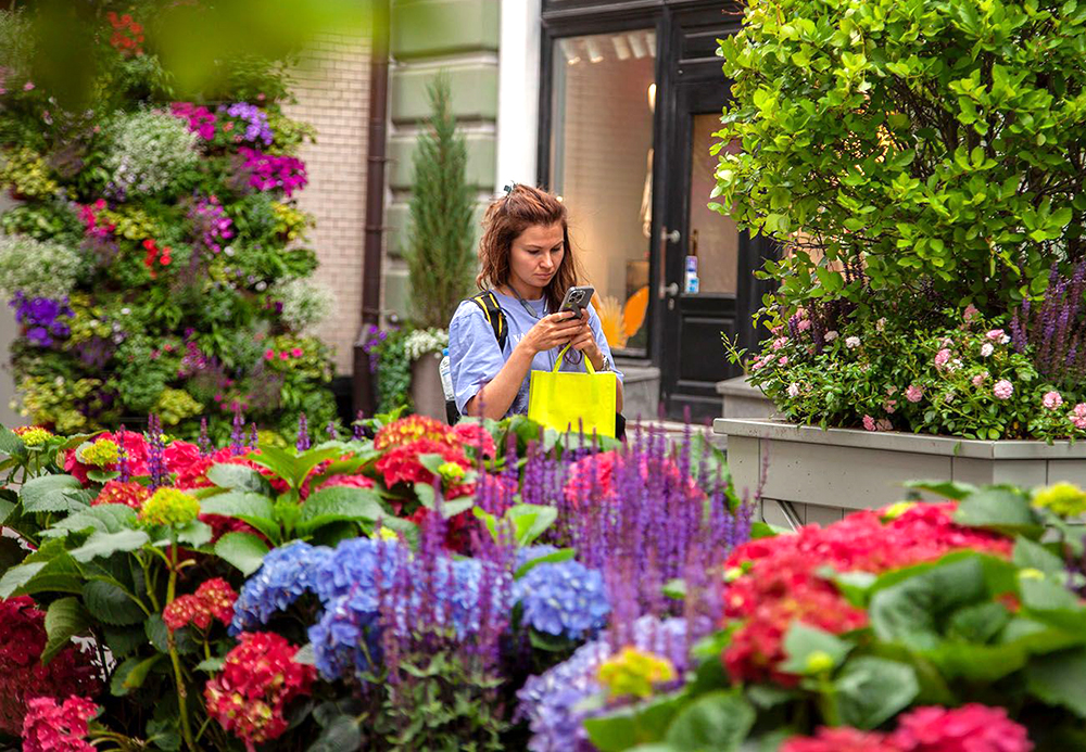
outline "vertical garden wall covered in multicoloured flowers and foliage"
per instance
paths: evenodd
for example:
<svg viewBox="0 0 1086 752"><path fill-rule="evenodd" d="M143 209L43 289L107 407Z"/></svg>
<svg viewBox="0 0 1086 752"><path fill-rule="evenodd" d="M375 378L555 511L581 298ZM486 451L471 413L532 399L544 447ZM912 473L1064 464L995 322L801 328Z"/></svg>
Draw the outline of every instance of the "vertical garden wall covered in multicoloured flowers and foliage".
<svg viewBox="0 0 1086 752"><path fill-rule="evenodd" d="M34 48L37 13L3 12L21 29L8 49ZM282 112L283 66L231 59L213 104L172 101L151 7L88 13L103 106L63 112L29 59L0 62L0 190L20 202L0 216L16 409L62 433L156 412L190 439L207 415L218 442L236 408L280 434L300 412L326 425L332 354L303 331L330 301L307 281L312 221L295 201L312 129ZM268 364L269 348L289 362Z"/></svg>

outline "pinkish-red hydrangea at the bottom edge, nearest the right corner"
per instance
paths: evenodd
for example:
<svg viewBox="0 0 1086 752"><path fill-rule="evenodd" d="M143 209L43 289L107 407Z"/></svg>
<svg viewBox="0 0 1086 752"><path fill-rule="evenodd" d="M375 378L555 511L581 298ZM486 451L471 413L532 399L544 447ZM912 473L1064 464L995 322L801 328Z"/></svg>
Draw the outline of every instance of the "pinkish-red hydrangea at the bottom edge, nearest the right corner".
<svg viewBox="0 0 1086 752"><path fill-rule="evenodd" d="M891 735L900 752L1030 752L1025 728L1002 708L918 708L898 718Z"/></svg>

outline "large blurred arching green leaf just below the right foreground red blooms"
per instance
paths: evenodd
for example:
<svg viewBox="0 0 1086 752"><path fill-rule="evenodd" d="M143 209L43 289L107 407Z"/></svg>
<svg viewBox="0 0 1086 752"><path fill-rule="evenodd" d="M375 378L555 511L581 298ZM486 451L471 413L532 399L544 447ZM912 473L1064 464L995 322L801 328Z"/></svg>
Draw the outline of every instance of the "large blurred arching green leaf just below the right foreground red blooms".
<svg viewBox="0 0 1086 752"><path fill-rule="evenodd" d="M877 590L871 598L871 625L879 639L932 649L942 639L945 614L987 595L984 568L976 557L943 562Z"/></svg>

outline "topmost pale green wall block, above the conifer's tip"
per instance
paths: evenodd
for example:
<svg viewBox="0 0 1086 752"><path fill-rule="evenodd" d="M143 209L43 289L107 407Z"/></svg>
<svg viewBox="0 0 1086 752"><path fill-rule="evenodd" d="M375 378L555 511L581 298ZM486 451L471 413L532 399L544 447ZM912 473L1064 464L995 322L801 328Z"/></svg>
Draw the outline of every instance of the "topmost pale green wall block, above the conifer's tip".
<svg viewBox="0 0 1086 752"><path fill-rule="evenodd" d="M392 55L427 55L496 50L498 0L416 0L392 9Z"/></svg>

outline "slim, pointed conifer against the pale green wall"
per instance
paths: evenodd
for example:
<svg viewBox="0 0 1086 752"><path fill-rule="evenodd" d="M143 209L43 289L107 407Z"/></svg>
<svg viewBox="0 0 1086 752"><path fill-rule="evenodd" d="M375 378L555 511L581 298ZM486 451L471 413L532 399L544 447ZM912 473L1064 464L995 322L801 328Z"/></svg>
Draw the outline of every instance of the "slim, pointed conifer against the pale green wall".
<svg viewBox="0 0 1086 752"><path fill-rule="evenodd" d="M418 137L409 205L412 307L420 328L445 329L471 291L475 199L467 184L467 146L456 132L449 77L428 88L432 115Z"/></svg>

